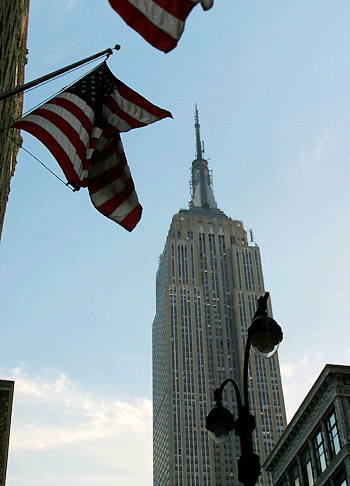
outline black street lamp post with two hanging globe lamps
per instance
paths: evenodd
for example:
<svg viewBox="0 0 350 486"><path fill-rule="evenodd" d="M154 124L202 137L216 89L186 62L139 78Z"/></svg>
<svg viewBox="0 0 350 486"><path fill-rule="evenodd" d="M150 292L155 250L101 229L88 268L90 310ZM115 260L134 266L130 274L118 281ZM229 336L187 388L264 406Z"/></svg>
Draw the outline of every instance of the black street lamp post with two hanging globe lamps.
<svg viewBox="0 0 350 486"><path fill-rule="evenodd" d="M240 439L241 457L238 459L238 480L244 486L254 486L260 475L259 456L253 452L253 430L256 426L254 415L250 413L248 400L248 361L250 347L264 358L270 358L283 339L283 333L277 322L267 315L269 293L259 297L258 307L253 321L248 328L248 337L243 363L243 401L238 384L232 378L223 381L214 391L215 407L206 418L206 429L219 444L227 442L233 431ZM222 393L225 386L232 383L238 405L238 417L222 405Z"/></svg>

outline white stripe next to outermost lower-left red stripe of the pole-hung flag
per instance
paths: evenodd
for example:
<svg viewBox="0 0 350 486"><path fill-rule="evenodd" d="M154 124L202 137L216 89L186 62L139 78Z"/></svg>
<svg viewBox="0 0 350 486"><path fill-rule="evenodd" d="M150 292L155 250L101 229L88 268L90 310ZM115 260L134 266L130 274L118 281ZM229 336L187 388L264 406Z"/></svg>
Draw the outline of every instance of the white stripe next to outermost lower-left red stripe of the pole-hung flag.
<svg viewBox="0 0 350 486"><path fill-rule="evenodd" d="M23 121L34 123L46 130L66 152L67 157L70 159L79 179L82 181L85 177L87 177L87 170L83 170L82 161L80 160L80 157L78 157L76 148L70 142L69 138L56 125L51 123L49 120L42 118L41 116L30 114L27 115Z"/></svg>

